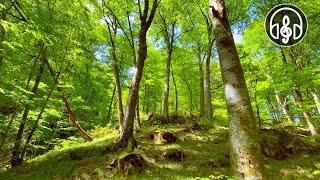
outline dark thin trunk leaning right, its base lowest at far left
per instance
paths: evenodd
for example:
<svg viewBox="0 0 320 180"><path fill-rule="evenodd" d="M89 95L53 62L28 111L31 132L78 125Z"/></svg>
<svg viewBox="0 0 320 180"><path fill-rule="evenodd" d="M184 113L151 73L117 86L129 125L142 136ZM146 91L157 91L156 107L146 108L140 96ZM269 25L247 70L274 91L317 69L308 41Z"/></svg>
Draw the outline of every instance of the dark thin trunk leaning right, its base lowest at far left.
<svg viewBox="0 0 320 180"><path fill-rule="evenodd" d="M40 47L40 49L41 49L40 53L41 54L42 54L42 48L43 47ZM43 59L43 57L41 57L41 59ZM29 102L32 102L34 97L38 93L38 87L39 87L39 84L40 84L40 81L41 81L41 78L42 78L44 67L45 67L45 63L44 63L44 61L42 61L41 65L40 65L39 73L37 74L35 83L34 83L33 88L32 88L32 93L33 94L30 96ZM22 147L21 147L22 146L22 138L23 138L23 133L24 133L24 129L25 129L25 126L26 126L26 122L28 120L28 115L29 115L30 109L31 109L31 105L30 104L27 104L25 106L25 108L24 108L24 112L23 112L23 115L22 115L20 126L19 126L19 129L18 129L18 132L17 132L17 135L16 135L16 139L15 139L15 142L14 142L14 148L13 148L13 151L12 151L12 157L11 157L11 165L12 165L12 167L18 166L23 162Z"/></svg>

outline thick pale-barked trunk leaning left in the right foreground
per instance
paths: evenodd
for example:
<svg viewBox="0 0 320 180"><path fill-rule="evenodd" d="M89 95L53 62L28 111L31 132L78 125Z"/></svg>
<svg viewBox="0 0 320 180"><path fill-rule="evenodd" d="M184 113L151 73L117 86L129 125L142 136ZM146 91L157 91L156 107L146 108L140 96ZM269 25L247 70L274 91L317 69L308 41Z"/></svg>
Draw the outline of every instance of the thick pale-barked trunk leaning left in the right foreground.
<svg viewBox="0 0 320 180"><path fill-rule="evenodd" d="M236 179L265 179L258 126L223 0L210 0L212 23L230 120L231 165Z"/></svg>

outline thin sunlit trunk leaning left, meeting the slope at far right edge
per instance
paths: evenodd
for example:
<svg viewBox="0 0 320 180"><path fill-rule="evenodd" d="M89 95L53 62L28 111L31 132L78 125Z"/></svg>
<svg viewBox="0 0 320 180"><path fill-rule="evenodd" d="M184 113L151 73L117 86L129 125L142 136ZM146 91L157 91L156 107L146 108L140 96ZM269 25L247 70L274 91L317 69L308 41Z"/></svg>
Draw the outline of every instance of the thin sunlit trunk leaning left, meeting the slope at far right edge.
<svg viewBox="0 0 320 180"><path fill-rule="evenodd" d="M296 103L298 104L299 108L300 109L304 109L304 107L303 107L303 98L302 98L301 91L299 89L294 89L294 99L295 99ZM318 130L312 123L311 113L308 110L304 110L303 111L303 116L307 121L309 130L310 130L312 136L318 135L319 134Z"/></svg>

